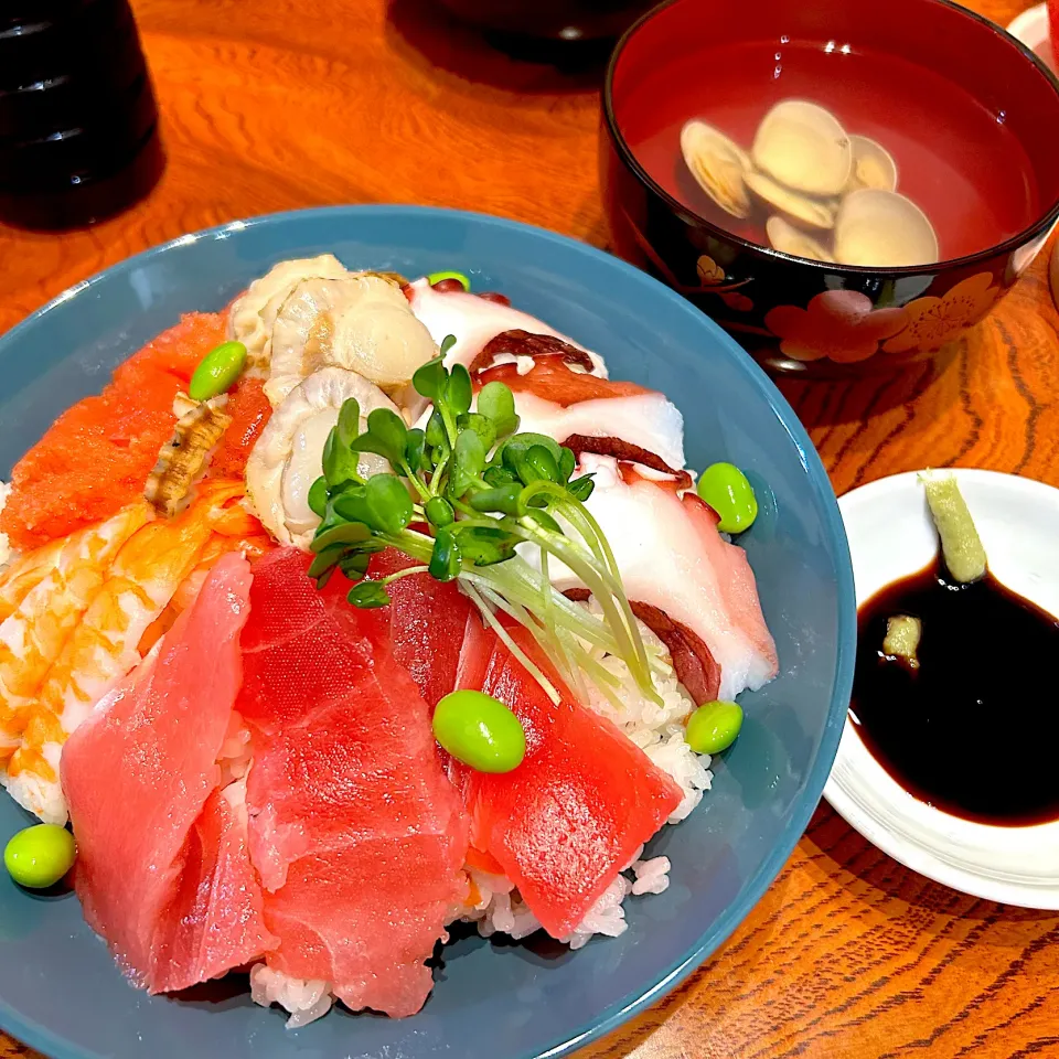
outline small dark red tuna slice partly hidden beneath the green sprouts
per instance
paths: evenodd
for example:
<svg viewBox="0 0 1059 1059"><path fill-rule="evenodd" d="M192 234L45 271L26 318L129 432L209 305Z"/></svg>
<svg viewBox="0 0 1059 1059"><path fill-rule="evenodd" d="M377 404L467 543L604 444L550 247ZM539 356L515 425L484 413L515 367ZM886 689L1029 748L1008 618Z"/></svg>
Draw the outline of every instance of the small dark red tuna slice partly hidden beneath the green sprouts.
<svg viewBox="0 0 1059 1059"><path fill-rule="evenodd" d="M368 576L387 577L416 566L395 548L372 556ZM456 687L471 601L456 581L442 582L429 574L413 574L386 586L393 602L371 613L388 622L394 657L411 674L432 710Z"/></svg>

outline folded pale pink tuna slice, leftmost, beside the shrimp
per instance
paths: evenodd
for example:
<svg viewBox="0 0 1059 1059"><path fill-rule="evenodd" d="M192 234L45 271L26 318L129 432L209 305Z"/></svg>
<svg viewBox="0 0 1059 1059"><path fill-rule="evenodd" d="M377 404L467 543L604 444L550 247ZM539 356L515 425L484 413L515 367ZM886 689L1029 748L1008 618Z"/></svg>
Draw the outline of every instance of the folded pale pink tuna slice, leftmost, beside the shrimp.
<svg viewBox="0 0 1059 1059"><path fill-rule="evenodd" d="M246 560L223 557L157 651L63 750L85 919L152 993L221 974L271 944L238 821L216 805L203 815L239 687L249 588ZM200 898L203 887L211 892Z"/></svg>

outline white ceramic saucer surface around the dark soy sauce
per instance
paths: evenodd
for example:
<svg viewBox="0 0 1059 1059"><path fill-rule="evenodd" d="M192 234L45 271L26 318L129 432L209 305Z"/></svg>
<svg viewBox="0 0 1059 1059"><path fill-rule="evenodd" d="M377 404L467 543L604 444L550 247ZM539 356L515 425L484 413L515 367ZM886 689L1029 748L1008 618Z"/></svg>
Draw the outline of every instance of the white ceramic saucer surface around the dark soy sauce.
<svg viewBox="0 0 1059 1059"><path fill-rule="evenodd" d="M999 581L1059 614L1059 490L995 471L955 471L960 490ZM895 474L839 498L849 537L857 605L921 570L938 537L917 472ZM1040 659L1040 691L1055 698L1053 659ZM1059 705L1057 705L1059 708ZM1026 738L1033 738L1026 732ZM1018 752L983 746L969 769L990 782L990 758ZM1056 749L1059 783L1059 748ZM846 720L824 796L896 860L954 889L1008 905L1059 909L1059 821L994 827L950 816L905 791L868 752Z"/></svg>

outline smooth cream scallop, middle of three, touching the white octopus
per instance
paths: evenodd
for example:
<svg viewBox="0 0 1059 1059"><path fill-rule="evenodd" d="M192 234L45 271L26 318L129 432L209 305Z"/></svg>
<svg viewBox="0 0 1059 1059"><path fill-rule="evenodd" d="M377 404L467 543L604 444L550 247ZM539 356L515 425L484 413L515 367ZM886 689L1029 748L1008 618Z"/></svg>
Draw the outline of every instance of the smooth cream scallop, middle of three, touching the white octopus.
<svg viewBox="0 0 1059 1059"><path fill-rule="evenodd" d="M276 315L265 395L278 405L319 367L344 367L382 389L405 386L438 355L400 288L374 272L298 284Z"/></svg>

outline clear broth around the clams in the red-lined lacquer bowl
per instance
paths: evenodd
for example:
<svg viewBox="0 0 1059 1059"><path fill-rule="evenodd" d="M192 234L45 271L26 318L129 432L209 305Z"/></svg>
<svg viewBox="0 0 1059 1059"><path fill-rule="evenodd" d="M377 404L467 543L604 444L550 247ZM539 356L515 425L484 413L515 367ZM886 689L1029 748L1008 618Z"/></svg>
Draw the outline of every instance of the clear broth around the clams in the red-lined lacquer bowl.
<svg viewBox="0 0 1059 1059"><path fill-rule="evenodd" d="M848 45L845 45L848 47ZM699 216L768 245L763 206L737 220L715 205L681 153L681 129L700 118L745 149L781 99L810 99L849 133L894 157L898 191L930 218L942 259L993 246L1040 215L1034 168L1006 116L965 88L895 55L842 45L726 43L659 63L639 86L652 106L627 108L621 131L648 173ZM774 211L773 211L774 212Z"/></svg>

